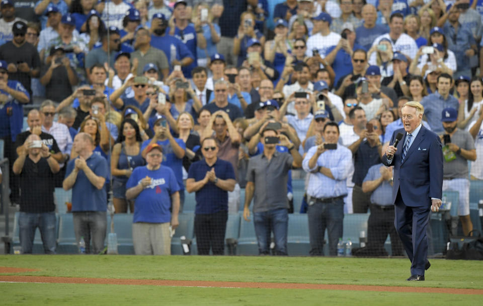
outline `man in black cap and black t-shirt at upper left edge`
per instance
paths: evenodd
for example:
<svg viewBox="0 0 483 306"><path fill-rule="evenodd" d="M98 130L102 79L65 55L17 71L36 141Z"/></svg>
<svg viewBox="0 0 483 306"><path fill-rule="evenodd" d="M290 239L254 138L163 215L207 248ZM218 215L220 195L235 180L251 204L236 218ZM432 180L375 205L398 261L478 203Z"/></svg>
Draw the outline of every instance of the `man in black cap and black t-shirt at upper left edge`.
<svg viewBox="0 0 483 306"><path fill-rule="evenodd" d="M27 25L23 21L14 23L12 33L14 39L0 46L0 58L8 64L9 78L22 83L32 95L31 78L38 77L40 71L39 53L25 40Z"/></svg>

